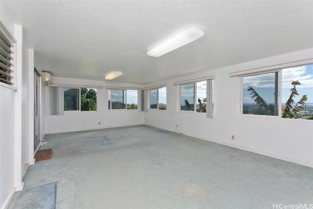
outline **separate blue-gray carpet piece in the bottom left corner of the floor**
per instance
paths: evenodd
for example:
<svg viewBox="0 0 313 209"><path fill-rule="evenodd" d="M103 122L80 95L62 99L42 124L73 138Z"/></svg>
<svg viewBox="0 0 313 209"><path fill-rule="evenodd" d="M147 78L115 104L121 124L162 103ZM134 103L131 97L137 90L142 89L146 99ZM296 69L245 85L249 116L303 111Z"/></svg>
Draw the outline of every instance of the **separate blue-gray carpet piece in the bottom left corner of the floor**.
<svg viewBox="0 0 313 209"><path fill-rule="evenodd" d="M55 209L57 183L16 192L8 209Z"/></svg>

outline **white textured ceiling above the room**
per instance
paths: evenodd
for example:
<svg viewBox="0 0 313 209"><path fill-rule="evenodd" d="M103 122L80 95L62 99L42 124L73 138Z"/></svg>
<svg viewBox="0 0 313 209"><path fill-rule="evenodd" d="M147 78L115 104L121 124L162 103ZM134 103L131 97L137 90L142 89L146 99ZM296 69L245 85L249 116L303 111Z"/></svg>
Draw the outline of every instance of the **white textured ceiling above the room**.
<svg viewBox="0 0 313 209"><path fill-rule="evenodd" d="M313 47L313 1L6 1L52 76L146 84ZM158 58L184 29L205 32Z"/></svg>

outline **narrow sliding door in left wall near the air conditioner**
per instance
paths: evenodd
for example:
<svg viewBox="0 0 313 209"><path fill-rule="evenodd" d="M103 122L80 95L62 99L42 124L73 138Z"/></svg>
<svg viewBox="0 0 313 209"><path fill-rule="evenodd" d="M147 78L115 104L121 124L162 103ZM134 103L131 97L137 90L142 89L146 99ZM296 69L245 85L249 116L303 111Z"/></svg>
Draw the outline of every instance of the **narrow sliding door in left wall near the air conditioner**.
<svg viewBox="0 0 313 209"><path fill-rule="evenodd" d="M35 69L34 79L34 150L40 141L40 74Z"/></svg>

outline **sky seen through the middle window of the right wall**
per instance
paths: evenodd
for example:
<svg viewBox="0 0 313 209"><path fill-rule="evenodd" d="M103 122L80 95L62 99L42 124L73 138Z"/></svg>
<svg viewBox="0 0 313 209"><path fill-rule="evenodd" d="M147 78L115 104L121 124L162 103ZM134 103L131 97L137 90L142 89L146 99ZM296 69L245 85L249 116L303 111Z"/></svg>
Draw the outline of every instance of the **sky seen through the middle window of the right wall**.
<svg viewBox="0 0 313 209"><path fill-rule="evenodd" d="M194 104L194 84L180 86L180 105L185 105L185 99L189 104ZM206 81L197 82L197 95L196 98L206 98ZM198 102L197 102L198 103Z"/></svg>

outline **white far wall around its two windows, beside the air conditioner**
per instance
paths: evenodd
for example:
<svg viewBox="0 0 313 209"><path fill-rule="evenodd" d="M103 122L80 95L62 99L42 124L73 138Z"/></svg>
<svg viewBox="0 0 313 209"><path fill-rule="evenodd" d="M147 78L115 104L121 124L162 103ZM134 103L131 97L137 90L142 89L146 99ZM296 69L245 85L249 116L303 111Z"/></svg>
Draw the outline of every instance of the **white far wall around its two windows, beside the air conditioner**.
<svg viewBox="0 0 313 209"><path fill-rule="evenodd" d="M106 86L143 88L143 85L122 84L53 77L52 84L103 86L97 89L97 111L65 111L64 115L50 115L50 92L45 87L45 134L81 131L98 128L138 125L144 123L144 112L138 110L108 110L108 90ZM100 122L100 125L98 124Z"/></svg>

